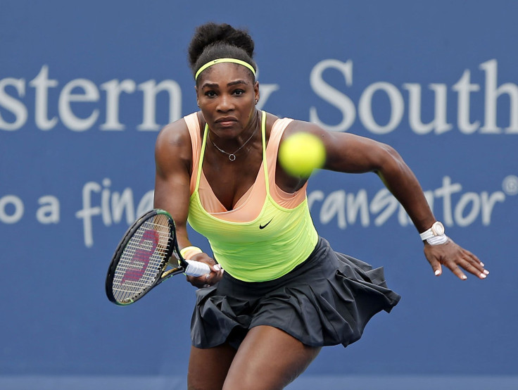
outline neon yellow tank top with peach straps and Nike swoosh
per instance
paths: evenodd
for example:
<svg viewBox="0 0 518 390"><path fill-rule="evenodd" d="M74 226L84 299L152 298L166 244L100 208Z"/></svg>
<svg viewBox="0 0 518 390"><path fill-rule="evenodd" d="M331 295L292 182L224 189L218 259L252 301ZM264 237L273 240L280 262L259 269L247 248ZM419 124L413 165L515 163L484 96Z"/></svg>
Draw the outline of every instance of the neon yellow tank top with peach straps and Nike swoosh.
<svg viewBox="0 0 518 390"><path fill-rule="evenodd" d="M286 202L282 202L286 206L284 207L276 202L271 194L272 191L276 191L276 195L279 192L282 194L282 190L275 184L275 175L268 176L267 161L270 161L270 168L274 172L275 167L272 165L277 161L279 140L286 125L291 120L286 118L277 120L284 121L284 125L277 127L274 125L272 127L272 134L270 134L268 142L269 146L270 143L272 144L272 147L268 148L270 158L267 159L266 113L263 111L261 126L263 164L255 184L264 180L266 185L256 186L254 184L251 191L249 190L248 192L253 193L254 190L262 190L261 198L264 203L255 218L240 222L229 220L232 218L232 215L228 215L228 213L232 213L234 210L228 213L209 213L203 208L199 188L201 176L203 175L203 154L206 147L208 127L206 125L203 132L203 140L201 140L196 114L185 117L185 120L189 127L193 144L193 166L196 167L196 161L198 162L197 170L193 169L193 175L196 174L196 182L193 180L194 177L191 177L189 225L208 239L215 259L222 265L225 272L228 272L232 277L245 282L263 282L286 275L286 273L308 258L313 249L315 249L318 239L317 231L311 220L308 199L305 196L307 184L296 193L300 195L299 198L302 201L292 208L289 206L293 205L293 202L290 202L289 199ZM274 134L274 128L279 129L280 132L277 131ZM277 144L272 139L276 139ZM200 141L201 145L199 145ZM196 147L196 143L198 143L198 147ZM199 154L195 155L194 153ZM262 175L262 171L264 175ZM289 194L285 195L289 196ZM254 195L249 194L249 199L254 199ZM257 198L255 197L255 199ZM247 206L253 207L254 205L247 205L245 201L240 207L246 208ZM241 211L239 210L239 212Z"/></svg>

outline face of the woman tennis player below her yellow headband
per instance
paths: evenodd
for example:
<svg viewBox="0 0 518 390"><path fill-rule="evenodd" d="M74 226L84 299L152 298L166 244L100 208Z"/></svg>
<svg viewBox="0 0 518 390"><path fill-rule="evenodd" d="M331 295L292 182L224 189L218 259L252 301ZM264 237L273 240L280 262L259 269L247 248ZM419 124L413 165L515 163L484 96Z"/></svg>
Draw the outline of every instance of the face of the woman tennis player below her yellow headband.
<svg viewBox="0 0 518 390"><path fill-rule="evenodd" d="M199 75L196 98L210 130L230 139L251 125L259 83L243 65L217 63Z"/></svg>

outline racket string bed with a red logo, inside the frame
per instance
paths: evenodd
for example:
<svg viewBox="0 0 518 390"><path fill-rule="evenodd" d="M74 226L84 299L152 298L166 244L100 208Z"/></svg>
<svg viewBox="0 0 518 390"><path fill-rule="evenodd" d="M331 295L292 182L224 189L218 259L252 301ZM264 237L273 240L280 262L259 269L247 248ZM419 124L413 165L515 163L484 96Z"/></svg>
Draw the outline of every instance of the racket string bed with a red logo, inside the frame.
<svg viewBox="0 0 518 390"><path fill-rule="evenodd" d="M160 277L171 253L169 223L165 215L154 215L128 241L113 277L113 296L117 301L132 301Z"/></svg>

